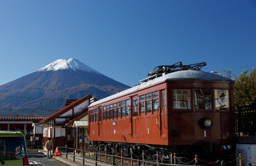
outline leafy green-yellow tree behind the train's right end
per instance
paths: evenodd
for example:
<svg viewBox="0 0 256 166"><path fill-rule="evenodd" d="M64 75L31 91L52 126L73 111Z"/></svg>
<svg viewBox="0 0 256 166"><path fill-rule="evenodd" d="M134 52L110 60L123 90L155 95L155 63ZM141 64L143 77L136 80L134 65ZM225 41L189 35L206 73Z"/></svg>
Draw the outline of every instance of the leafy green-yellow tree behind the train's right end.
<svg viewBox="0 0 256 166"><path fill-rule="evenodd" d="M231 72L228 71L228 75ZM234 105L256 105L256 66L253 69L234 75Z"/></svg>

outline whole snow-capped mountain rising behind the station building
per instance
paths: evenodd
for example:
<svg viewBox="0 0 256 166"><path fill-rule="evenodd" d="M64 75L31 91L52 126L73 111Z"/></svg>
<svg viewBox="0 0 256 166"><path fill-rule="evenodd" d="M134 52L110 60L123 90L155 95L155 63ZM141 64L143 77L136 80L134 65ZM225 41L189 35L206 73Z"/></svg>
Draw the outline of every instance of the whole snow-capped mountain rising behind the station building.
<svg viewBox="0 0 256 166"><path fill-rule="evenodd" d="M0 86L0 116L50 116L66 100L97 99L128 89L74 58L58 59L34 73Z"/></svg>

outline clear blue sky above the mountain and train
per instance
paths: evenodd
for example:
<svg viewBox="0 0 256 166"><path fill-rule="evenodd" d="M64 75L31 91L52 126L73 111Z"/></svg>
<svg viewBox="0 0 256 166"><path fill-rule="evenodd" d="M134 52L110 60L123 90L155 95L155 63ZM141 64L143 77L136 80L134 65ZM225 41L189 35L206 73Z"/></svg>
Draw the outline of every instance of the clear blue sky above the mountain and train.
<svg viewBox="0 0 256 166"><path fill-rule="evenodd" d="M256 1L0 1L0 85L74 57L133 86L155 66L256 64Z"/></svg>

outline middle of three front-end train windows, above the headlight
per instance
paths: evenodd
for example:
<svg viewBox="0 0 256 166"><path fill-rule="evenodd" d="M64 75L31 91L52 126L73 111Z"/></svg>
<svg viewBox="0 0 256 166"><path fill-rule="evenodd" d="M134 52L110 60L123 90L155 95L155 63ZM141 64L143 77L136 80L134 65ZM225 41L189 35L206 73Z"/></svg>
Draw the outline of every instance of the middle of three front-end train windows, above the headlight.
<svg viewBox="0 0 256 166"><path fill-rule="evenodd" d="M210 89L195 89L196 109L212 109L212 91Z"/></svg>

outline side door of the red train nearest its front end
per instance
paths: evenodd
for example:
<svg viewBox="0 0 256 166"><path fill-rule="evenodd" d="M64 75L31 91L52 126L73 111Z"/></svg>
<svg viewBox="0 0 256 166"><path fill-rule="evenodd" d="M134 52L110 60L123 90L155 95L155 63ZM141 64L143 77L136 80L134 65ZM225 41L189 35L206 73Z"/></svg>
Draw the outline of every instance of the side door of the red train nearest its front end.
<svg viewBox="0 0 256 166"><path fill-rule="evenodd" d="M166 112L166 93L160 91L160 136L162 139L167 138L167 112Z"/></svg>

